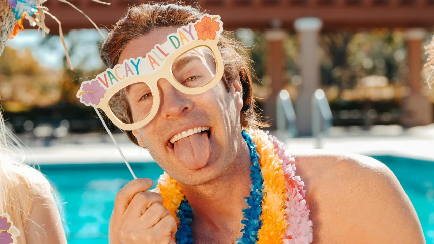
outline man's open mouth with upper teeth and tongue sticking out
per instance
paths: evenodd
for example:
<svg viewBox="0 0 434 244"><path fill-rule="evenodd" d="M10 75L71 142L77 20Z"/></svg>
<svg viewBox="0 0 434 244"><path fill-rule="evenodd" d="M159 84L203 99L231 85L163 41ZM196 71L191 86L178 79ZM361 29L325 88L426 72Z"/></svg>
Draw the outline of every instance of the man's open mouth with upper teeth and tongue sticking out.
<svg viewBox="0 0 434 244"><path fill-rule="evenodd" d="M198 170L208 162L211 153L210 137L210 127L194 127L172 136L167 144L185 168Z"/></svg>

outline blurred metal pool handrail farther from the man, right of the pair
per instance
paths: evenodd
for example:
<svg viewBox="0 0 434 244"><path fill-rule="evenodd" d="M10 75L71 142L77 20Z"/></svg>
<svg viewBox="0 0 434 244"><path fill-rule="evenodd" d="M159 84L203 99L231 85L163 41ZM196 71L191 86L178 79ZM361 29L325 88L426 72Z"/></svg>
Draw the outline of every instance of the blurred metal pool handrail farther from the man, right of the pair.
<svg viewBox="0 0 434 244"><path fill-rule="evenodd" d="M325 97L325 93L323 90L317 89L312 95L312 136L316 138L317 149L322 148L321 137L329 135L333 123L332 120L332 110Z"/></svg>

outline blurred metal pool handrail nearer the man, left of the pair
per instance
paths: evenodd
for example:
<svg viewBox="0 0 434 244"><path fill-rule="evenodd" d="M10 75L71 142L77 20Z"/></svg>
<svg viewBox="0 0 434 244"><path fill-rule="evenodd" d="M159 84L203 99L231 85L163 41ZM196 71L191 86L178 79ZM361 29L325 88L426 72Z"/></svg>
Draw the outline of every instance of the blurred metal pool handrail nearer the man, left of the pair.
<svg viewBox="0 0 434 244"><path fill-rule="evenodd" d="M276 98L276 127L279 131L287 131L289 138L294 138L297 136L296 120L291 97L287 90L281 90Z"/></svg>

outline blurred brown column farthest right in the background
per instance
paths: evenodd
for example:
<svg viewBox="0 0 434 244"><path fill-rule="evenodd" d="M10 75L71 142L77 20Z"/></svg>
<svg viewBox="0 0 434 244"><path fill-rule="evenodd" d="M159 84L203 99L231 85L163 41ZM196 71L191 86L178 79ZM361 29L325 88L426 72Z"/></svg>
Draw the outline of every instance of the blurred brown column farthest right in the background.
<svg viewBox="0 0 434 244"><path fill-rule="evenodd" d="M406 127L422 126L432 123L432 104L422 86L422 48L425 42L424 29L409 29L405 33L407 48L407 63L409 74L407 85L410 89L408 97L404 99L403 124Z"/></svg>

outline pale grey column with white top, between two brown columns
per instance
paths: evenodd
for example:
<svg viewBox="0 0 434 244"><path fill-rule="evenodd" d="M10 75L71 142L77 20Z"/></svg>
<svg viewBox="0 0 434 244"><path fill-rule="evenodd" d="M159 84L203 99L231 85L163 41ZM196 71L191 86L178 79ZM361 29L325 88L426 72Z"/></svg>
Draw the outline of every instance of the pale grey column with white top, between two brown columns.
<svg viewBox="0 0 434 244"><path fill-rule="evenodd" d="M299 136L311 136L311 100L320 85L318 36L322 21L316 17L300 18L295 21L294 27L299 36L300 76L302 77L302 85L295 104L297 131Z"/></svg>

